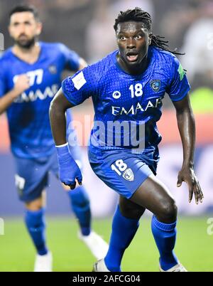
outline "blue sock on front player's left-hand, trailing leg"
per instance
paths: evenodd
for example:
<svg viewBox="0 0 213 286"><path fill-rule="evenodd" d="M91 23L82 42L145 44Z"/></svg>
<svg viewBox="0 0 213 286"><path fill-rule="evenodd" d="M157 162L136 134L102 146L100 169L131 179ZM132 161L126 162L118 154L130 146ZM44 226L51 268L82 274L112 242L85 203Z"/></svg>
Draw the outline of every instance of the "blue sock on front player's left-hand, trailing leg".
<svg viewBox="0 0 213 286"><path fill-rule="evenodd" d="M124 255L124 251L129 247L131 240L138 230L138 226L139 221L122 216L118 206L112 222L109 250L104 259L109 271L121 271L121 259Z"/></svg>

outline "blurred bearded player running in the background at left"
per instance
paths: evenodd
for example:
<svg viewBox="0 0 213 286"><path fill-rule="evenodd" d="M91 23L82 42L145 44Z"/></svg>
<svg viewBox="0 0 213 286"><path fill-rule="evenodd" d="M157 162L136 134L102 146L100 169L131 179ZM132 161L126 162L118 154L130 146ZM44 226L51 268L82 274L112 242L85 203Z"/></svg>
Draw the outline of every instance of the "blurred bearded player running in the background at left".
<svg viewBox="0 0 213 286"><path fill-rule="evenodd" d="M9 23L14 46L0 59L0 114L7 111L16 186L26 206L26 227L38 253L35 272L52 270L44 221L48 173L52 171L58 176L58 158L48 115L50 102L60 88L63 70L76 72L87 66L62 43L38 42L41 30L38 11L33 6L16 6L10 13ZM67 124L71 121L68 111ZM72 127L67 134L70 132ZM80 163L80 150L73 147L70 152ZM80 224L80 238L96 258L104 257L108 246L91 229L89 197L84 187L67 194Z"/></svg>

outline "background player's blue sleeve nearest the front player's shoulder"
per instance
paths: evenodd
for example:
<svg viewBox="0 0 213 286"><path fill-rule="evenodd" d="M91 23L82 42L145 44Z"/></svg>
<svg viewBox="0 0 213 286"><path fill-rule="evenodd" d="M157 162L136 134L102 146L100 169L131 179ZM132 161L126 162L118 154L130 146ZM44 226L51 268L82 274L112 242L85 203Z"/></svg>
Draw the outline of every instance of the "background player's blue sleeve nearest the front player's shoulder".
<svg viewBox="0 0 213 286"><path fill-rule="evenodd" d="M60 51L65 57L66 68L77 71L80 68L80 56L62 43L60 43Z"/></svg>

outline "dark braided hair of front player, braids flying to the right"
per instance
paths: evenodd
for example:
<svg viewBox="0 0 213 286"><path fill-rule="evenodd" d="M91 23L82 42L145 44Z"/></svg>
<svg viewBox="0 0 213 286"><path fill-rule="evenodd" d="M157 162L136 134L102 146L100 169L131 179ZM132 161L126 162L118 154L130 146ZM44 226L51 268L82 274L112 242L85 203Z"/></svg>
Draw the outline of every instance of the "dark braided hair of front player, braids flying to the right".
<svg viewBox="0 0 213 286"><path fill-rule="evenodd" d="M160 50L168 51L170 53L174 53L176 55L183 55L182 53L178 53L177 49L175 51L170 51L168 46L168 41L163 40L162 36L153 35L152 31L152 18L148 12L143 11L141 8L136 7L135 9L129 9L124 12L120 12L119 16L116 18L114 23L114 30L117 31L119 23L124 23L128 21L133 22L141 22L148 29L151 36L151 46L155 46L160 48Z"/></svg>

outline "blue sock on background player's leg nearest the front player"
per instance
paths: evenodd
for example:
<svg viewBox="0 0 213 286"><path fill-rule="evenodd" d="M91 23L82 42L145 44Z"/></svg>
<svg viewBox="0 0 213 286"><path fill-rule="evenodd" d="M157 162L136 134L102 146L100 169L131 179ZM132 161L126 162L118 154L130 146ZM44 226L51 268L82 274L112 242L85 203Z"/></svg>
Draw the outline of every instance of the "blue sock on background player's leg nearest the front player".
<svg viewBox="0 0 213 286"><path fill-rule="evenodd" d="M82 235L89 235L91 232L91 211L87 192L83 186L80 186L74 191L69 191L68 194L72 210L80 224Z"/></svg>

